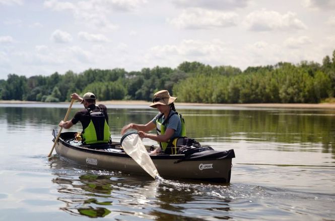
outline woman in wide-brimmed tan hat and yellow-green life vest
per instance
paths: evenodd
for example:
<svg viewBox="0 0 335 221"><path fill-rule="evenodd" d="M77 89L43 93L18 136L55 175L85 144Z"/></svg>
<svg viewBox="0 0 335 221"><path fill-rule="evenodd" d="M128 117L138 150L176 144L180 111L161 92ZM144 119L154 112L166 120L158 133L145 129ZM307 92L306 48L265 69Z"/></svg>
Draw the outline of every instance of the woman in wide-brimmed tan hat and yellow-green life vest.
<svg viewBox="0 0 335 221"><path fill-rule="evenodd" d="M159 113L147 124L129 123L125 125L121 134L124 134L128 129L138 130L141 138L150 138L159 143L159 148L151 152L151 154L176 154L176 138L186 136L185 122L180 114L176 112L174 101L176 97L171 97L166 90L158 91L154 94L152 108L157 108ZM157 134L148 133L155 129Z"/></svg>

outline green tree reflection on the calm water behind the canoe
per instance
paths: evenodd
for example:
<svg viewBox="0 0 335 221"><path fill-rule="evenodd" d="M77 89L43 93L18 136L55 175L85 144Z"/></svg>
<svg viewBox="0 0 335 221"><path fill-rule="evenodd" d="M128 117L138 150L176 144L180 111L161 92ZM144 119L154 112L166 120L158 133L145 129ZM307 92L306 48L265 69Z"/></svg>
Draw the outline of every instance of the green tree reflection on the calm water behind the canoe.
<svg viewBox="0 0 335 221"><path fill-rule="evenodd" d="M70 116L80 106L73 108ZM55 126L63 118L66 108L0 107L0 117L6 119L8 130L27 126ZM332 153L335 159L335 111L333 110L180 110L186 121L188 136L199 141L236 140L264 143L299 143L321 145L322 152ZM10 114L9 114L10 113ZM146 123L156 114L154 109L109 108L112 137L120 137L120 129L128 122ZM81 126L75 125L75 130ZM288 150L287 150L288 151ZM291 150L294 151L294 150Z"/></svg>

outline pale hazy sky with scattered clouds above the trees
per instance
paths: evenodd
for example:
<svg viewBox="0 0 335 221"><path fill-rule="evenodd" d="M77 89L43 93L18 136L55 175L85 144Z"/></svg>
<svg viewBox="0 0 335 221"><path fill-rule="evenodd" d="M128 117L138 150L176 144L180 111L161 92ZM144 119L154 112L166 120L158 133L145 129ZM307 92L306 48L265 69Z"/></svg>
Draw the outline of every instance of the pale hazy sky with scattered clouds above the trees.
<svg viewBox="0 0 335 221"><path fill-rule="evenodd" d="M334 0L0 0L0 79L89 68L322 63Z"/></svg>

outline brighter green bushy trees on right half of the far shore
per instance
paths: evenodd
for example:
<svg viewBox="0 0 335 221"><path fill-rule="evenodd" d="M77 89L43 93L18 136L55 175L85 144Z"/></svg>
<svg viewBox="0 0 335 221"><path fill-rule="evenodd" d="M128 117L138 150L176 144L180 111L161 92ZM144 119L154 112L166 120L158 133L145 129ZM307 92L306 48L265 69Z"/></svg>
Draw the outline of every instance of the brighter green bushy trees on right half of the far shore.
<svg viewBox="0 0 335 221"><path fill-rule="evenodd" d="M195 103L317 103L332 96L331 86L330 77L314 63L279 63L247 68L240 75L197 75L180 81L173 92Z"/></svg>

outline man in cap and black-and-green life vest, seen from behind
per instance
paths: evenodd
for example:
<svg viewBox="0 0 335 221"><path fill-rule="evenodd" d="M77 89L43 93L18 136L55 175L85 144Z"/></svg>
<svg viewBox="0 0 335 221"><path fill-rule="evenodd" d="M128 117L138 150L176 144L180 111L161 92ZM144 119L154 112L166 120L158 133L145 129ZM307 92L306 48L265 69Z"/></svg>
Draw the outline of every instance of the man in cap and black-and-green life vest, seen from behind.
<svg viewBox="0 0 335 221"><path fill-rule="evenodd" d="M78 111L71 120L60 121L58 125L69 129L80 121L83 126L83 131L81 132L83 144L108 143L110 140L110 128L108 126L106 106L103 104L96 105L96 97L91 92L84 94L83 98L74 93L71 98L80 101L85 109Z"/></svg>

